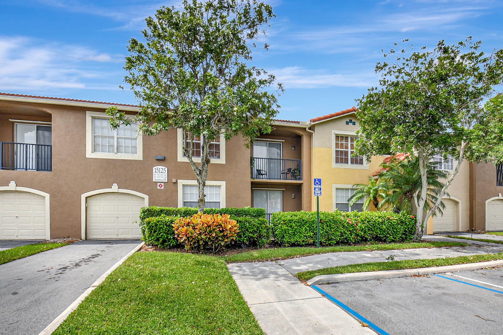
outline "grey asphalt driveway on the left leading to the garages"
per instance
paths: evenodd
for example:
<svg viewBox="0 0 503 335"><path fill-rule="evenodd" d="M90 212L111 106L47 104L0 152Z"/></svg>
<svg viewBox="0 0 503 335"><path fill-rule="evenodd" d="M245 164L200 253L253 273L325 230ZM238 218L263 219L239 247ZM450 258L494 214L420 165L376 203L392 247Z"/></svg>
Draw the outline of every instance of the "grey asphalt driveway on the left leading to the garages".
<svg viewBox="0 0 503 335"><path fill-rule="evenodd" d="M0 334L38 334L140 242L79 241L0 265Z"/></svg>

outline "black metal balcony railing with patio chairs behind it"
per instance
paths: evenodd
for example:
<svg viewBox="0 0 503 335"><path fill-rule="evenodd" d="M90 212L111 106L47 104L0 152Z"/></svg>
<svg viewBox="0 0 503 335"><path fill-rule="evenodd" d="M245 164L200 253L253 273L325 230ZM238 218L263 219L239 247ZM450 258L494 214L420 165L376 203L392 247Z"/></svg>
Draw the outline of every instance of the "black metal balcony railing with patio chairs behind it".
<svg viewBox="0 0 503 335"><path fill-rule="evenodd" d="M302 161L299 159L251 157L251 178L302 180Z"/></svg>

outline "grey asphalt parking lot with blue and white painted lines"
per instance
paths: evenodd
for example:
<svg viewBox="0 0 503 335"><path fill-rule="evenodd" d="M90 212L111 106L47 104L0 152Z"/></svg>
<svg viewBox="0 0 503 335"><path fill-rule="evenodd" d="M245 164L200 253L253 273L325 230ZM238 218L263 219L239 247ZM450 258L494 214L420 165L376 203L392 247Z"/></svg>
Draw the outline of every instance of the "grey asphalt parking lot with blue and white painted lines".
<svg viewBox="0 0 503 335"><path fill-rule="evenodd" d="M376 325L381 334L503 334L501 267L317 287Z"/></svg>

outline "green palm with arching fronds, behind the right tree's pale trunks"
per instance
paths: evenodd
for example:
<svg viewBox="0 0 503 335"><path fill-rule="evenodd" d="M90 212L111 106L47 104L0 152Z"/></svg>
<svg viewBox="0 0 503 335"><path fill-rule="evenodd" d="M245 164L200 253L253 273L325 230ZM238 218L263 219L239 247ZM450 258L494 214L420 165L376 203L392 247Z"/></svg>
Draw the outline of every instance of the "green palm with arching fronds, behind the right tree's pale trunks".
<svg viewBox="0 0 503 335"><path fill-rule="evenodd" d="M444 183L439 179L445 179L449 173L438 168L438 162L429 162L427 166L428 191L426 197L426 208L433 207L437 200L437 195L444 187ZM384 169L379 173L381 179L382 200L379 209L393 210L396 212L412 212L412 200L414 194L421 190L421 173L419 169L419 159L409 156L403 161L392 159L381 164ZM419 196L420 194L417 194ZM446 193L447 196L449 194ZM442 214L445 208L441 203L438 210ZM437 214L437 213L435 213Z"/></svg>

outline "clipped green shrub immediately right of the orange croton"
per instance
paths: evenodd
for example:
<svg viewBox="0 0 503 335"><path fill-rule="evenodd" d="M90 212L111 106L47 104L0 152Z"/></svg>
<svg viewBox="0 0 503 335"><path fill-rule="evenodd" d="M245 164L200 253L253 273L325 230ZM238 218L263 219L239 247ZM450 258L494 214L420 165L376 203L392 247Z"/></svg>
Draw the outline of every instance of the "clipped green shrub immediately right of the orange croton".
<svg viewBox="0 0 503 335"><path fill-rule="evenodd" d="M264 246L270 238L269 222L266 218L231 217L239 224L236 243L244 249L247 246Z"/></svg>

